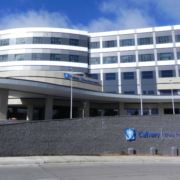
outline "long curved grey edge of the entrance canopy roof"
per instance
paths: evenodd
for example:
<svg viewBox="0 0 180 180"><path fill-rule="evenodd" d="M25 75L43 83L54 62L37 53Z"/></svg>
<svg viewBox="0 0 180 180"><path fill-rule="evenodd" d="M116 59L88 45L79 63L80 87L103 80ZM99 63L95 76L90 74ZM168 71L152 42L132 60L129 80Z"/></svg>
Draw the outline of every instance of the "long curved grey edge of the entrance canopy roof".
<svg viewBox="0 0 180 180"><path fill-rule="evenodd" d="M34 81L24 81L15 79L0 79L1 88L9 89L11 91L28 92L34 94L44 94L53 95L56 97L66 97L70 98L70 87L65 87L61 85L55 85L43 82ZM73 88L73 98L74 99L87 99L99 102L132 102L139 103L139 95L125 95L125 94L110 94L103 92L94 92L89 90L83 90L78 88ZM172 96L142 96L143 102L171 102ZM175 102L180 102L179 96L174 96Z"/></svg>

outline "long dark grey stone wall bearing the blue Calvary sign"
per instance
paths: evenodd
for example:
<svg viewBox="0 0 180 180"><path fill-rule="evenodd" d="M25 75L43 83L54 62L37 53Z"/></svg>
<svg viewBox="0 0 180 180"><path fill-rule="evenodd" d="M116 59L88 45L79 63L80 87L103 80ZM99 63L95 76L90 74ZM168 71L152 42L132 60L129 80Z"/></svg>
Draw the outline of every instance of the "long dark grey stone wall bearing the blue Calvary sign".
<svg viewBox="0 0 180 180"><path fill-rule="evenodd" d="M135 131L134 139L126 140ZM128 134L129 133L129 134ZM131 137L130 137L131 139ZM0 125L0 155L137 154L180 150L180 115L96 117Z"/></svg>

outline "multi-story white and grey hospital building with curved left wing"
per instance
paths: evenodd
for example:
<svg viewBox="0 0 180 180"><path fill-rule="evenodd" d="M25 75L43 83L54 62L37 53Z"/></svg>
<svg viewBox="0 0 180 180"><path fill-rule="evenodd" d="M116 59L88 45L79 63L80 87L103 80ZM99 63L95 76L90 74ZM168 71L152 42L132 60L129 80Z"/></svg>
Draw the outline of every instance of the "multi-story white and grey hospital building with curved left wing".
<svg viewBox="0 0 180 180"><path fill-rule="evenodd" d="M73 74L73 75L72 75ZM180 113L180 25L0 31L0 119Z"/></svg>

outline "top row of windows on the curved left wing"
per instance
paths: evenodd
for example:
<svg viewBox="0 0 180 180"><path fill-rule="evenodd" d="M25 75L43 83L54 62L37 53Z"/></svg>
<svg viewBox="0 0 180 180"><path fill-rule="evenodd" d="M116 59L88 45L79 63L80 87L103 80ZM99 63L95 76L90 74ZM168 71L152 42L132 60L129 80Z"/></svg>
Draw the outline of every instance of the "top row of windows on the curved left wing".
<svg viewBox="0 0 180 180"><path fill-rule="evenodd" d="M64 44L71 46L83 46L87 47L88 42L79 40L79 39L66 39L66 38L44 38L44 37L33 37L29 38L31 40L27 40L28 38L17 38L14 44ZM10 45L10 39L1 39L0 46L8 46Z"/></svg>

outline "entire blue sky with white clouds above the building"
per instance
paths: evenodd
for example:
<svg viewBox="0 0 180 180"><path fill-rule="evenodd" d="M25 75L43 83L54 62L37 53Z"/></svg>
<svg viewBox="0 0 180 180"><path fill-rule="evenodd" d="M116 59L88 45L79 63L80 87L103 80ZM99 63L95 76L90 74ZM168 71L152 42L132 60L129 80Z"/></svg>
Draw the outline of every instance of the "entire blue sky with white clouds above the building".
<svg viewBox="0 0 180 180"><path fill-rule="evenodd" d="M180 0L1 0L0 29L59 27L89 32L180 24Z"/></svg>

